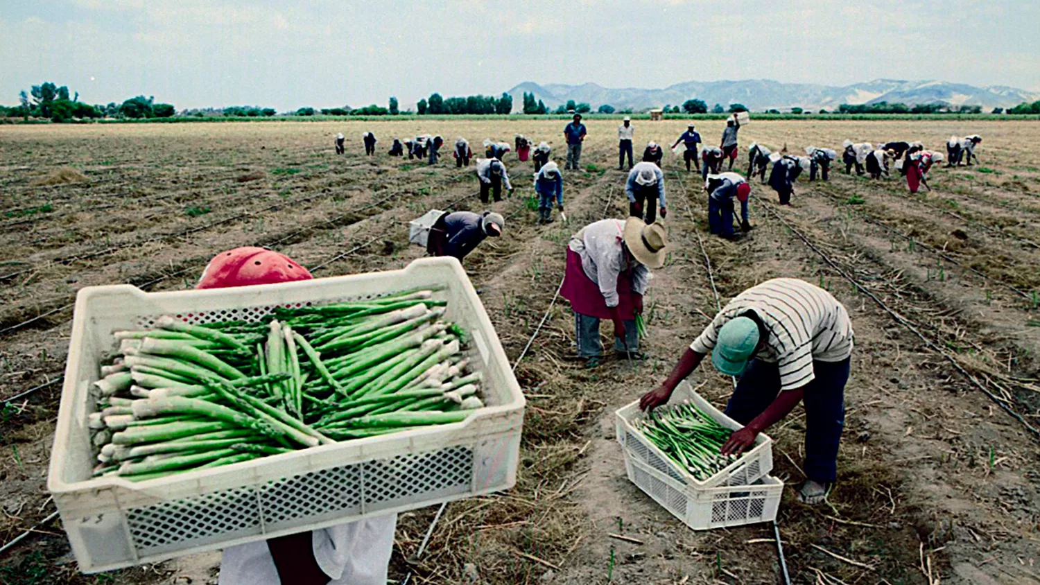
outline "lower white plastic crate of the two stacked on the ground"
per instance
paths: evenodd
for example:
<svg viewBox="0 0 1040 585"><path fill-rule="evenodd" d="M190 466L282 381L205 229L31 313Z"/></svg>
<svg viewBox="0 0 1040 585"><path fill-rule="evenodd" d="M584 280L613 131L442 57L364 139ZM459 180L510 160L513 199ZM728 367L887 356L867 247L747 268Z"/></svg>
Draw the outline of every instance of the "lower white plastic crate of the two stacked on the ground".
<svg viewBox="0 0 1040 585"><path fill-rule="evenodd" d="M672 479L625 453L628 479L694 530L776 520L783 482L766 475L751 485L698 488Z"/></svg>

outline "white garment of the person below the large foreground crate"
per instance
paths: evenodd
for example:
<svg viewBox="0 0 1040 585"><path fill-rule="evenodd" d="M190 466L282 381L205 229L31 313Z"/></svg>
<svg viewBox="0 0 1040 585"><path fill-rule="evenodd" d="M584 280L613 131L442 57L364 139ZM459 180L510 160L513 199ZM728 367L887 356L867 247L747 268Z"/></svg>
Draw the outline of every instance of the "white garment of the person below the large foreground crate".
<svg viewBox="0 0 1040 585"><path fill-rule="evenodd" d="M386 585L397 514L315 530L314 560L329 585ZM265 540L224 550L218 585L281 585Z"/></svg>

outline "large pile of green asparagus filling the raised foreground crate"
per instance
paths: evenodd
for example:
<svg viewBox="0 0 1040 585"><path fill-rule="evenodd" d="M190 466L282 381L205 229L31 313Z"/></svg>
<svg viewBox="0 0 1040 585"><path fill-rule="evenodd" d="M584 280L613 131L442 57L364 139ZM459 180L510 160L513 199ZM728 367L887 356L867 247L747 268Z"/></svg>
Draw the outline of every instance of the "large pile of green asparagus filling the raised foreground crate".
<svg viewBox="0 0 1040 585"><path fill-rule="evenodd" d="M464 420L484 406L468 338L432 290L116 331L87 418L95 476L146 480Z"/></svg>

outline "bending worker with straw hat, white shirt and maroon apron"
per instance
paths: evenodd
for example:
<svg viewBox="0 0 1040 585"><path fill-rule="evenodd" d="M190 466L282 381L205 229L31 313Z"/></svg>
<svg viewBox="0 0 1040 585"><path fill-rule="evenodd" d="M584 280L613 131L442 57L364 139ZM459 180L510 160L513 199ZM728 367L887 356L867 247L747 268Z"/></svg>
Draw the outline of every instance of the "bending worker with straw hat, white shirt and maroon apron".
<svg viewBox="0 0 1040 585"><path fill-rule="evenodd" d="M643 313L650 268L665 265L668 249L665 228L647 225L638 217L602 219L571 236L560 294L574 310L578 357L586 360L587 368L603 361L601 319L614 322L616 355L646 358L639 351L635 316Z"/></svg>

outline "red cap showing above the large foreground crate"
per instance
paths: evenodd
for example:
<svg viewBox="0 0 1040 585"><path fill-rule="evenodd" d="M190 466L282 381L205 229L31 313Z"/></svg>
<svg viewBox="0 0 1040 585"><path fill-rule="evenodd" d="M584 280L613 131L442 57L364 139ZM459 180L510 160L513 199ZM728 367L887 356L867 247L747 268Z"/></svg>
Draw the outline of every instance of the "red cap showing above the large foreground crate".
<svg viewBox="0 0 1040 585"><path fill-rule="evenodd" d="M245 246L213 257L199 278L197 289L224 289L309 281L311 273L284 254Z"/></svg>

